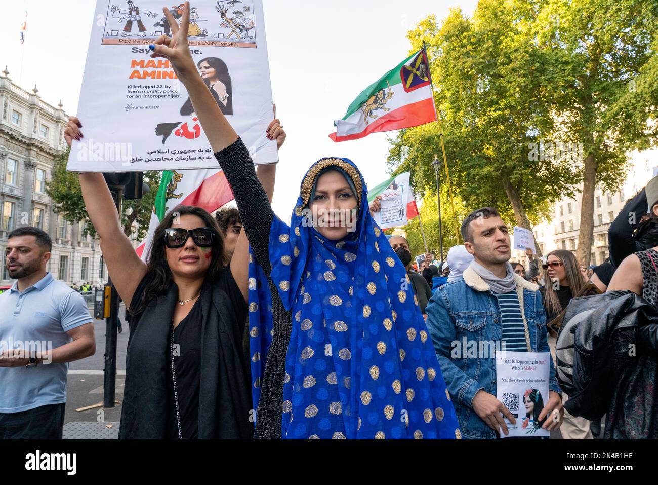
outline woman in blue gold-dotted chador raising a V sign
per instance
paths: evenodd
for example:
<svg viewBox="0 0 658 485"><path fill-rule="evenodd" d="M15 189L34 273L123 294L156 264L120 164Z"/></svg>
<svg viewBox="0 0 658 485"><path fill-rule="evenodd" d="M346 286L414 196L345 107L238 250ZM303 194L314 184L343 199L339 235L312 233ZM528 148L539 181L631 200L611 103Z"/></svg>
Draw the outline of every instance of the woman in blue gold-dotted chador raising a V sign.
<svg viewBox="0 0 658 485"><path fill-rule="evenodd" d="M181 31L188 12L186 3ZM257 438L461 438L409 278L370 217L357 167L316 162L290 225L275 217L249 151L170 23L176 34L159 39L155 55L168 57L184 82L253 251Z"/></svg>

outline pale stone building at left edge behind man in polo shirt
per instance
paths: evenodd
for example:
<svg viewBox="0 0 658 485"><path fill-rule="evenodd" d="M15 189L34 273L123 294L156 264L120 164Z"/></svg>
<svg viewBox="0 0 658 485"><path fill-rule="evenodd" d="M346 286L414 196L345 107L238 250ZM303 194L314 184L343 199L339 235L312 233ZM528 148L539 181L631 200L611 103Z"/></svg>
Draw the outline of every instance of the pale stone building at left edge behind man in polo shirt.
<svg viewBox="0 0 658 485"><path fill-rule="evenodd" d="M16 227L34 225L53 239L47 270L67 284L107 279L98 241L82 237L82 227L53 212L45 194L53 160L66 148L68 115L41 100L35 86L27 92L0 73L0 287L11 285L5 261L7 235Z"/></svg>

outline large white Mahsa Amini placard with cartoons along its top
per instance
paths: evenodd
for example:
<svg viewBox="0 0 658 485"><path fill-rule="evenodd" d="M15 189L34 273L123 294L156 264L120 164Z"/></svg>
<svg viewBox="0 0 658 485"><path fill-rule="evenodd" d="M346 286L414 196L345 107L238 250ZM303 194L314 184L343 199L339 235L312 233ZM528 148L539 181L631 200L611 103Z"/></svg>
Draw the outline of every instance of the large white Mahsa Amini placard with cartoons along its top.
<svg viewBox="0 0 658 485"><path fill-rule="evenodd" d="M185 86L149 44L170 34L162 0L97 0L71 171L128 172L217 168ZM180 24L183 4L168 7ZM255 164L278 160L266 138L273 119L262 0L198 0L188 43L213 98Z"/></svg>

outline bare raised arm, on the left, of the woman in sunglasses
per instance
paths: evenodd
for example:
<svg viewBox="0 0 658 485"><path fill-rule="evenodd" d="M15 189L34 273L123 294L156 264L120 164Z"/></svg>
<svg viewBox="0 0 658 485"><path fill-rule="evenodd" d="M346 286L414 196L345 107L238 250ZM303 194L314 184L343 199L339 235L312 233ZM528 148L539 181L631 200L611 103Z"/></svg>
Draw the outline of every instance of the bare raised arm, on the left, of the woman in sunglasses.
<svg viewBox="0 0 658 485"><path fill-rule="evenodd" d="M72 140L80 140L83 137L80 128L80 120L74 116L70 117L64 130L64 138L69 146ZM116 291L128 306L139 282L146 274L146 264L139 259L121 229L121 221L103 174L80 173L78 178L89 219L101 239L103 261L107 264L107 271Z"/></svg>

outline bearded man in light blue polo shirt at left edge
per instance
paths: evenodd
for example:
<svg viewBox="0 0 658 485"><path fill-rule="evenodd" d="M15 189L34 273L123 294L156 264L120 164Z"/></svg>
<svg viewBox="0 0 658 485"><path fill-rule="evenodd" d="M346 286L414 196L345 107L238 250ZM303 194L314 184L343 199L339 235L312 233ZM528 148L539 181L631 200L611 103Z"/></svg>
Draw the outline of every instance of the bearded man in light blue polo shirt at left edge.
<svg viewBox="0 0 658 485"><path fill-rule="evenodd" d="M0 440L61 439L68 362L96 350L84 298L45 270L52 247L36 227L9 234L16 281L0 295Z"/></svg>

